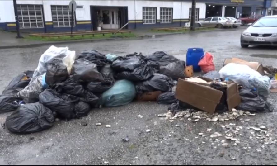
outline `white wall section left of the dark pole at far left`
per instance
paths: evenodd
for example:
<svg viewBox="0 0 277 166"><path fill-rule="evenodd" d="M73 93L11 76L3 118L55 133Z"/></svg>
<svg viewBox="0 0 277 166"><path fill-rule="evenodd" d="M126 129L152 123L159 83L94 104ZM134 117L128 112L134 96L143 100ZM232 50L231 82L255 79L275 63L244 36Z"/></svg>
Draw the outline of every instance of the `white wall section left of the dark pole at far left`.
<svg viewBox="0 0 277 166"><path fill-rule="evenodd" d="M0 1L0 22L15 22L13 2Z"/></svg>

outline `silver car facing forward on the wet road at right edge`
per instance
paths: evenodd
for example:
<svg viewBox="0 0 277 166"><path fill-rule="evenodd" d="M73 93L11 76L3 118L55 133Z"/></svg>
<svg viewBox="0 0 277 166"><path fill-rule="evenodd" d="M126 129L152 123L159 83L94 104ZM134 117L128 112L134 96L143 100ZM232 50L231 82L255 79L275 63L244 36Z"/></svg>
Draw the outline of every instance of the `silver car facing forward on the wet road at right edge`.
<svg viewBox="0 0 277 166"><path fill-rule="evenodd" d="M277 46L277 15L261 17L242 32L242 48L249 45Z"/></svg>

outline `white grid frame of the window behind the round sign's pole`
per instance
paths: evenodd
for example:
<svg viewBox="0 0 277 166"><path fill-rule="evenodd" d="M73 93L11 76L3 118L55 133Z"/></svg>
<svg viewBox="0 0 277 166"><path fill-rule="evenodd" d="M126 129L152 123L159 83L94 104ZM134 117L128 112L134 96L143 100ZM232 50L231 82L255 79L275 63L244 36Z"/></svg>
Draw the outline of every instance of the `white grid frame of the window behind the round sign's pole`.
<svg viewBox="0 0 277 166"><path fill-rule="evenodd" d="M63 11L63 7L67 6L68 7L68 21L64 21L64 11ZM56 12L56 18L57 18L57 21L54 21L54 17L53 17L53 14L52 14L52 7L55 7L56 10L54 12ZM61 7L62 11L58 11L58 8L57 7ZM53 27L54 28L60 28L60 27L71 27L71 20L70 20L70 17L71 17L71 12L69 10L69 6L68 5L50 5L50 9L51 9L51 16L52 16L52 23L53 23ZM59 16L58 16L58 12L62 12L62 17L63 19L62 20L59 20ZM66 11L65 11L66 12ZM54 25L54 22L57 22L57 25L58 26L55 26ZM59 22L63 22L63 26L60 26L59 25ZM65 25L65 22L68 22L68 26ZM73 12L73 27L76 26L76 12L74 11Z"/></svg>

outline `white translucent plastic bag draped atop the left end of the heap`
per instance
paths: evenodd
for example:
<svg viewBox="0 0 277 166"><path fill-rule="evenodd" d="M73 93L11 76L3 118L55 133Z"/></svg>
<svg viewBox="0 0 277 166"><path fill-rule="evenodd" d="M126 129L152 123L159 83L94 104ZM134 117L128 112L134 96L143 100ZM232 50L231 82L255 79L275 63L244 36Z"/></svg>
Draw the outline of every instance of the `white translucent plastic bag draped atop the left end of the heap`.
<svg viewBox="0 0 277 166"><path fill-rule="evenodd" d="M33 78L43 75L47 70L47 62L54 57L58 57L63 60L63 63L66 65L68 73L70 74L72 65L76 58L75 51L68 50L68 47L55 47L52 45L40 56L39 64L35 69Z"/></svg>

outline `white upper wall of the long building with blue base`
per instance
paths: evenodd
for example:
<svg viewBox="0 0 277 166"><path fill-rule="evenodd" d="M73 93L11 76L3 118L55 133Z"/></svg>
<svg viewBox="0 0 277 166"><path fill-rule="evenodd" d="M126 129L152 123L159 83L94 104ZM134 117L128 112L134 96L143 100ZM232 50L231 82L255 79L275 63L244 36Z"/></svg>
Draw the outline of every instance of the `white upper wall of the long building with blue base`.
<svg viewBox="0 0 277 166"><path fill-rule="evenodd" d="M52 21L51 5L68 5L70 0L17 0L17 4L40 4L43 5L45 21ZM157 19L160 19L160 7L172 7L173 19L188 19L190 1L146 1L146 0L76 0L77 6L83 8L76 9L77 21L91 20L90 6L122 6L128 7L129 20L142 20L143 7L157 7ZM181 9L182 6L182 9ZM134 9L136 7L136 9ZM206 4L196 3L199 8L199 18L205 18ZM182 10L182 13L181 13ZM8 13L8 14L7 14ZM0 1L0 22L15 22L12 0ZM4 14L4 15L3 15Z"/></svg>

